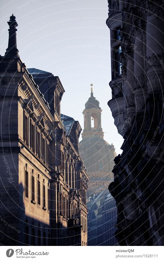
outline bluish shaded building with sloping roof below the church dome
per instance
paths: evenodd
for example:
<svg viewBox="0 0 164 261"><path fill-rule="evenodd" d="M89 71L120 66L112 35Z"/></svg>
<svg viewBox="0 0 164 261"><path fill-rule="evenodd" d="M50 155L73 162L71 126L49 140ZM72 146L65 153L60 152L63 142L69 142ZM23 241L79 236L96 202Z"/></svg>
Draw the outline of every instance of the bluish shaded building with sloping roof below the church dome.
<svg viewBox="0 0 164 261"><path fill-rule="evenodd" d="M117 208L114 198L108 190L103 190L87 203L88 246L116 246L114 236Z"/></svg>

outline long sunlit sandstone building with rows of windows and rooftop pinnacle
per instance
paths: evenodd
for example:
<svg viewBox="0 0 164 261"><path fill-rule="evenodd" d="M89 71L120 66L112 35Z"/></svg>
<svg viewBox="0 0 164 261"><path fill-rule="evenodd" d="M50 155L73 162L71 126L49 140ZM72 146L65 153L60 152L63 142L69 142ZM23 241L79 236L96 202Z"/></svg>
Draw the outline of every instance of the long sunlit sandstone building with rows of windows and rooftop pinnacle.
<svg viewBox="0 0 164 261"><path fill-rule="evenodd" d="M0 243L87 245L82 129L60 114L65 91L59 77L26 69L14 15L8 24L8 48L0 56Z"/></svg>

